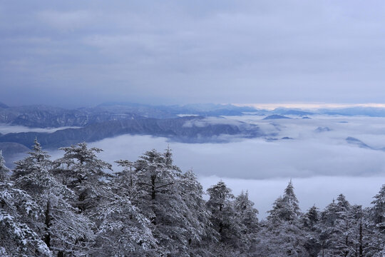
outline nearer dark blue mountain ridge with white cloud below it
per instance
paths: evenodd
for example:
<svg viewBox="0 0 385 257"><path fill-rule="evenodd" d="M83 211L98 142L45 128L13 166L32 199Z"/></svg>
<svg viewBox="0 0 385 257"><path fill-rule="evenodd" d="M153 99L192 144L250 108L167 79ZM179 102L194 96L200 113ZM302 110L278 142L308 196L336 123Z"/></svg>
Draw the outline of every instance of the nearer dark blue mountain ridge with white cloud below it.
<svg viewBox="0 0 385 257"><path fill-rule="evenodd" d="M16 142L24 146L31 146L34 138L38 138L43 146L57 148L81 141L98 141L103 138L123 134L164 136L174 141L187 143L223 142L220 136L262 136L258 126L240 123L210 124L203 126L185 126L187 121L202 121L200 116L188 116L175 119L127 119L120 121L104 121L97 124L88 124L80 129L63 129L53 133L7 133L0 136L0 142Z"/></svg>

